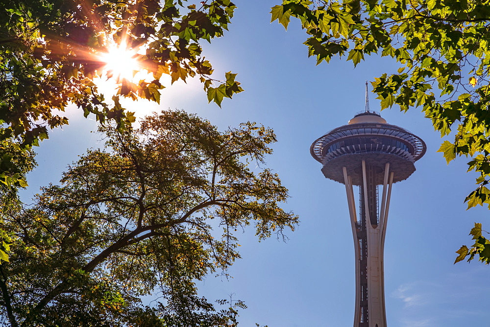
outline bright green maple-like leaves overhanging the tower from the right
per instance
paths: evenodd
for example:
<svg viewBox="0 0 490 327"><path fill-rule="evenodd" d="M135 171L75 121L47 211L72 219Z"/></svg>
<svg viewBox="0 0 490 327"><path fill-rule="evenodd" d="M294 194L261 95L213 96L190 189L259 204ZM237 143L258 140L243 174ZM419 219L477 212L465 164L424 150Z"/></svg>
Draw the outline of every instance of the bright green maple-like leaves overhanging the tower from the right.
<svg viewBox="0 0 490 327"><path fill-rule="evenodd" d="M471 157L468 171L480 174L468 208L490 205L489 1L283 0L271 14L286 28L291 17L301 21L317 64L334 56L347 56L354 66L365 55L395 59L398 71L372 82L381 108L420 107L441 137L454 136L439 151L448 163ZM461 248L456 261L471 252L470 260L478 253L490 262L490 241L481 225L475 229L477 244Z"/></svg>

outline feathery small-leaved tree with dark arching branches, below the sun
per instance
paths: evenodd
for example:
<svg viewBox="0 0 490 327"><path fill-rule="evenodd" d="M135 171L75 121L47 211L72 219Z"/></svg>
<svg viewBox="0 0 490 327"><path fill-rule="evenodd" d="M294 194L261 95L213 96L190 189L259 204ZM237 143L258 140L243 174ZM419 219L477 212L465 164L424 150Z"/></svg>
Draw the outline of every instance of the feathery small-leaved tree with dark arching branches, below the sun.
<svg viewBox="0 0 490 327"><path fill-rule="evenodd" d="M105 149L87 152L61 186L31 206L1 197L0 306L10 326L223 326L196 280L240 257L237 232L259 239L294 230L279 207L288 191L263 163L270 129L245 123L219 132L181 111L138 129L103 128ZM212 228L213 227L213 228ZM155 305L141 296L159 292ZM224 301L220 302L221 304ZM238 303L239 306L243 304Z"/></svg>

